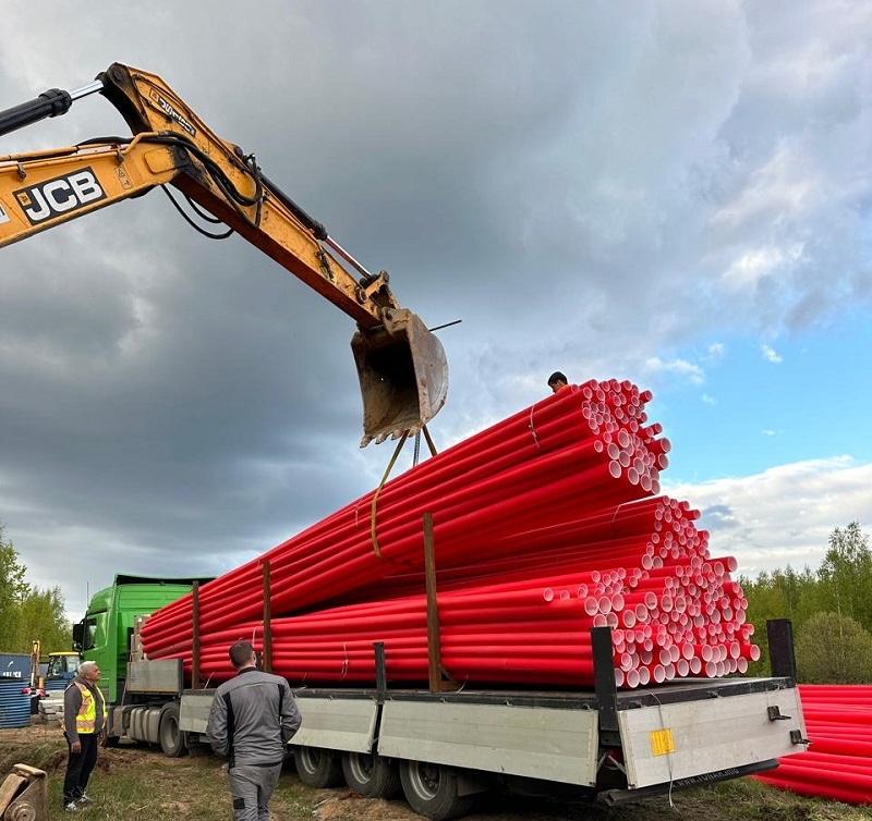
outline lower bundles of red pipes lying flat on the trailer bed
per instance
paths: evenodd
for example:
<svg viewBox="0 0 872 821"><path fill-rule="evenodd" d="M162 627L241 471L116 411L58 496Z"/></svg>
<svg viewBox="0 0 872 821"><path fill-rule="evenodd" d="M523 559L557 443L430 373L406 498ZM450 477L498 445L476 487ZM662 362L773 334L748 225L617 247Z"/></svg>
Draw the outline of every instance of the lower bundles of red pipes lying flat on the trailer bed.
<svg viewBox="0 0 872 821"><path fill-rule="evenodd" d="M748 659L756 658L751 625L738 615L730 622L702 615L705 608L744 613L727 566L734 565L692 556L657 573L583 569L580 561L562 575L456 587L439 595L443 666L459 683L590 685L589 632L608 625L615 628L619 686L744 672ZM689 601L691 588L699 606ZM202 673L227 678L227 647L240 638L259 645L262 628L252 622L211 634L201 647ZM294 683L373 682L375 641L385 646L390 681L427 677L424 596L277 618L271 629L272 669ZM173 655L190 660L186 648Z"/></svg>

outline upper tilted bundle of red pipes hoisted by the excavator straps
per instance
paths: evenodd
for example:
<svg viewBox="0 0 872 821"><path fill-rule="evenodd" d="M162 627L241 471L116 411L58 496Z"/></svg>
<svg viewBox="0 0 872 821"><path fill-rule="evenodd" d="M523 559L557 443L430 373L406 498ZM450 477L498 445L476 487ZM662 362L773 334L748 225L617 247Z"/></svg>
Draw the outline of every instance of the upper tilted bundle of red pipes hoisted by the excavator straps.
<svg viewBox="0 0 872 821"><path fill-rule="evenodd" d="M261 614L261 563L269 561L276 613L303 612L399 567L419 567L421 517L433 513L439 566L462 564L471 535L491 543L541 522L658 490L669 450L646 429L644 404L629 382L591 381L543 400L444 451L337 511L202 590L201 626ZM625 466L626 465L626 466ZM155 646L170 624L190 628L191 598L156 614L143 639Z"/></svg>

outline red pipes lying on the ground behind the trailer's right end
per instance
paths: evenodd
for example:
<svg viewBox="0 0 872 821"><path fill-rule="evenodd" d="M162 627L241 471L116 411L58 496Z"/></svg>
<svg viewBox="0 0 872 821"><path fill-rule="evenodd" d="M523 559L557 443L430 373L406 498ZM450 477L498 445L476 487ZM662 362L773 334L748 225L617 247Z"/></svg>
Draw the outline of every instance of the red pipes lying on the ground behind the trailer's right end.
<svg viewBox="0 0 872 821"><path fill-rule="evenodd" d="M872 804L872 686L803 684L799 695L808 751L756 777L799 795Z"/></svg>

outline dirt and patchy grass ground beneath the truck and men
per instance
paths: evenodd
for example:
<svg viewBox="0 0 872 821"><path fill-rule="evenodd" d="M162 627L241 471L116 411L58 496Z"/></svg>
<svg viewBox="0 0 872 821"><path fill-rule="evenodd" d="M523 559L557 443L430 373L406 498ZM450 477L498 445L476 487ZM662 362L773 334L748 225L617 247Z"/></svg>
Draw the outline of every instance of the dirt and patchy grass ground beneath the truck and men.
<svg viewBox="0 0 872 821"><path fill-rule="evenodd" d="M65 745L57 725L36 724L22 730L0 730L0 781L11 763L25 761L39 767L49 780L63 777L66 761ZM97 763L98 774L109 775L124 770L142 769L143 780L148 780L159 767L161 780L190 783L193 775L201 782L214 782L217 787L217 759L185 757L167 759L149 748L125 746L102 749ZM195 772L192 774L192 768ZM283 794L284 800L282 800ZM167 796L169 798L169 796ZM278 800L271 805L270 821L421 821L402 799L392 801L366 799L348 788L311 789L303 786L293 767L282 779ZM856 808L821 801L806 801L763 787L758 782L743 780L715 788L676 793L671 802L667 796L633 801L617 807L604 807L581 799L519 797L487 794L480 796L468 821L663 821L677 818L681 821L856 821L872 819ZM229 813L228 813L229 816ZM216 818L223 818L218 812ZM183 811L174 816L184 821Z"/></svg>

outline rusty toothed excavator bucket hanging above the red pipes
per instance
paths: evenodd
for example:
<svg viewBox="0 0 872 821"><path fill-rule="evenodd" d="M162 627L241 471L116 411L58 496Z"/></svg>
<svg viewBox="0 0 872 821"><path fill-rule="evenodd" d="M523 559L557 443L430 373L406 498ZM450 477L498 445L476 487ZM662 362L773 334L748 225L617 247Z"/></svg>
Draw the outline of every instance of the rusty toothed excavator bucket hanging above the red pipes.
<svg viewBox="0 0 872 821"><path fill-rule="evenodd" d="M361 329L351 340L363 399L363 439L416 433L445 404L448 363L445 350L412 311L385 311L385 323Z"/></svg>

